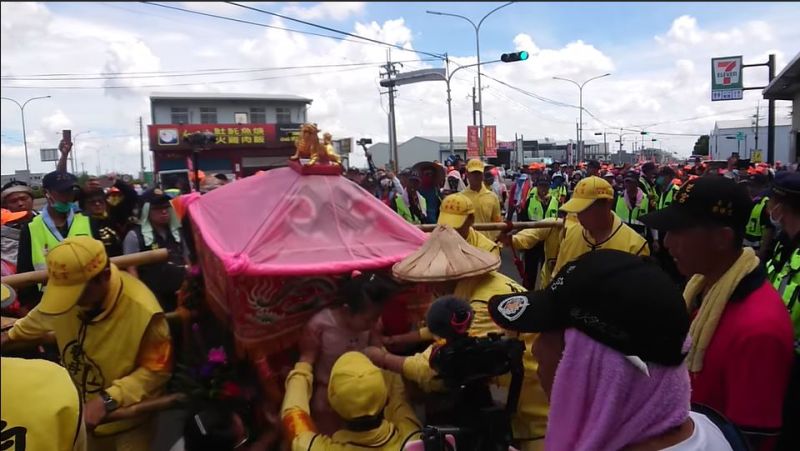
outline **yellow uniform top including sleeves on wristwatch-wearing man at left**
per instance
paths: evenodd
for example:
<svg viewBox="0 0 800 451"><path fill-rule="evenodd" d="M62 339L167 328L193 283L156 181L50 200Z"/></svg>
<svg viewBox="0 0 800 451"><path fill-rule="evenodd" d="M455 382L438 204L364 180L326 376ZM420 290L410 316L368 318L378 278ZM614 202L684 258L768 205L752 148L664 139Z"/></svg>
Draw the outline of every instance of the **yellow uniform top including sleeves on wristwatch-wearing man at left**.
<svg viewBox="0 0 800 451"><path fill-rule="evenodd" d="M33 340L53 331L64 367L83 402L105 390L120 407L161 394L172 369L169 326L153 293L141 281L111 267L104 311L89 323L74 307L63 315L38 308L14 323L12 340ZM131 429L141 419L108 423L94 435Z"/></svg>

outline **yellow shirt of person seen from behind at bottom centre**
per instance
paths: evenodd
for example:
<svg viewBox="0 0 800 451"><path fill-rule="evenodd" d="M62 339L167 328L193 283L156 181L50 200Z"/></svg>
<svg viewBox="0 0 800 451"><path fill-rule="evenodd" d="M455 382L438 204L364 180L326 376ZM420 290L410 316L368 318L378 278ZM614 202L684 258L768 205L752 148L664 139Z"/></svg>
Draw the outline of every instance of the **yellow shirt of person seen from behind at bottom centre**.
<svg viewBox="0 0 800 451"><path fill-rule="evenodd" d="M333 436L300 431L292 440L292 450L399 450L403 442L421 428L411 406L405 400L403 381L397 374L384 371L389 398L383 410L384 420L376 429L364 432L340 430ZM314 386L313 369L305 362L297 362L286 378L286 395L281 406L281 418L292 411L310 415L309 400ZM409 440L413 440L409 439Z"/></svg>

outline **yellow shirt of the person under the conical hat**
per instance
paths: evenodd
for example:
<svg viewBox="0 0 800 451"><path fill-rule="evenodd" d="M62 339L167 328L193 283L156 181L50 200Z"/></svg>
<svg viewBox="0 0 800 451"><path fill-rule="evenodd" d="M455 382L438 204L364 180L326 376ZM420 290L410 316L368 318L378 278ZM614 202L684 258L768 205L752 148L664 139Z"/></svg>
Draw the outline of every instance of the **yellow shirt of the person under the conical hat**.
<svg viewBox="0 0 800 451"><path fill-rule="evenodd" d="M469 329L473 336L485 336L489 332L503 333L492 321L488 310L488 301L495 295L521 293L525 289L514 280L492 271L482 276L462 279L456 285L455 296L469 301L475 311L475 317ZM525 440L543 437L547 429L547 412L549 404L542 390L536 370L539 364L533 358L531 347L538 334L521 334L526 351L522 356L525 376L522 381L517 414L512 418L512 428L516 439ZM425 391L444 389L442 382L436 379L436 372L429 365L432 347L422 353L407 357L403 363L403 376L416 382ZM499 387L507 388L511 383L510 375L498 378ZM533 442L523 442L523 449L533 446Z"/></svg>

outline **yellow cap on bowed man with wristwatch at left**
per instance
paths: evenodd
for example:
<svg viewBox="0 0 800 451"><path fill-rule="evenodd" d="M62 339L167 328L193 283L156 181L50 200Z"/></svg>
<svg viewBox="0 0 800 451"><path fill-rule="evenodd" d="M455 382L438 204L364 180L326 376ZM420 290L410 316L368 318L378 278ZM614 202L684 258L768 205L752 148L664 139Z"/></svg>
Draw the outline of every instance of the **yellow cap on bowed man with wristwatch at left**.
<svg viewBox="0 0 800 451"><path fill-rule="evenodd" d="M66 313L78 303L86 283L108 264L103 243L88 236L67 238L47 254L47 287L39 311Z"/></svg>

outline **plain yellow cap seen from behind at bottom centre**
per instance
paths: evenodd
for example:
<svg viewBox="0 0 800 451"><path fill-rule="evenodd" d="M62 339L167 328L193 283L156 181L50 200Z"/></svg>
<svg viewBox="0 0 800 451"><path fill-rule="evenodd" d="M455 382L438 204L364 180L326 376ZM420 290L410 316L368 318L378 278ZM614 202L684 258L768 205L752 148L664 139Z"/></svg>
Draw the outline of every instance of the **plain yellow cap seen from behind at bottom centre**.
<svg viewBox="0 0 800 451"><path fill-rule="evenodd" d="M364 354L346 352L333 364L328 401L342 419L377 415L388 397L383 373Z"/></svg>

